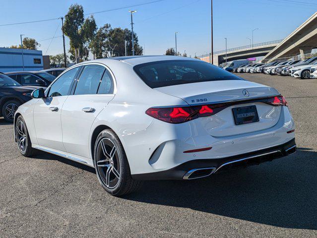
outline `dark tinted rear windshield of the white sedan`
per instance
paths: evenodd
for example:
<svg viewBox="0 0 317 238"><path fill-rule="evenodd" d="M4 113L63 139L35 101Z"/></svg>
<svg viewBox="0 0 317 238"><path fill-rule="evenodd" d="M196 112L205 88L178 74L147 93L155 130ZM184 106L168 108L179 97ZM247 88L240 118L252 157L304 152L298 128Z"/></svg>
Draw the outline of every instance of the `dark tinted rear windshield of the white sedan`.
<svg viewBox="0 0 317 238"><path fill-rule="evenodd" d="M213 64L197 60L163 60L133 67L151 88L219 80L244 80Z"/></svg>

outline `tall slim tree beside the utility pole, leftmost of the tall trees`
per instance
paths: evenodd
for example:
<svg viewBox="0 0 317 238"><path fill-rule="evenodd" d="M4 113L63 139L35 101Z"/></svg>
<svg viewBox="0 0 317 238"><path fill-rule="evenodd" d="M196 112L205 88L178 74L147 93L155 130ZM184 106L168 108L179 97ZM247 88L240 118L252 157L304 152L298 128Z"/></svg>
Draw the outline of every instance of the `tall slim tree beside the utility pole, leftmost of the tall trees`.
<svg viewBox="0 0 317 238"><path fill-rule="evenodd" d="M73 48L75 62L80 59L80 47L83 44L83 33L80 31L84 23L84 9L82 5L71 4L64 21L64 34L69 38L70 48Z"/></svg>

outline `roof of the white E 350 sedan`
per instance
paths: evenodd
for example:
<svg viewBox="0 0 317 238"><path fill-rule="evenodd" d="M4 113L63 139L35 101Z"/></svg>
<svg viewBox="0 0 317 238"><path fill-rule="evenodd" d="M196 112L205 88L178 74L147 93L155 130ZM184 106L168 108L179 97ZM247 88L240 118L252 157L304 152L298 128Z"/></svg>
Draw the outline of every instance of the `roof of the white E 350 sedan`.
<svg viewBox="0 0 317 238"><path fill-rule="evenodd" d="M109 60L126 62L134 66L141 63L162 61L162 60L197 60L197 59L190 58L190 57L180 57L180 56L127 56L127 57L112 57L112 58L104 58L104 59L98 59L98 60L89 60L89 61L77 63L75 65L78 66L80 64L94 63L94 62L107 64ZM201 60L198 60L198 61L201 61Z"/></svg>

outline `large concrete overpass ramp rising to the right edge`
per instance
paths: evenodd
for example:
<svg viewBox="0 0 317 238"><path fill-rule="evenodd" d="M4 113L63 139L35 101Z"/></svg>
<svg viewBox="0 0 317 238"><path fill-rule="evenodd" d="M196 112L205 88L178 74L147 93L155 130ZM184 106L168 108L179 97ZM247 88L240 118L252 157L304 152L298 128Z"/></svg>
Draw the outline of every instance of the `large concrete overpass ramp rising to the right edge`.
<svg viewBox="0 0 317 238"><path fill-rule="evenodd" d="M299 54L303 59L304 54L311 53L315 48L317 48L317 12L270 51L262 62L290 58Z"/></svg>

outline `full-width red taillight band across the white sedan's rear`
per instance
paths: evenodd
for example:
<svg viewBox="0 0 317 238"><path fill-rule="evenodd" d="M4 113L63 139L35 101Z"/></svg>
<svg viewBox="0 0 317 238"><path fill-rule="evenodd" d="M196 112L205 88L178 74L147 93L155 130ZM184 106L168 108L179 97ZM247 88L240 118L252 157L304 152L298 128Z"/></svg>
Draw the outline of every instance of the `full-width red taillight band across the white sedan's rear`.
<svg viewBox="0 0 317 238"><path fill-rule="evenodd" d="M285 98L281 95L257 98L242 101L234 101L220 104L197 105L188 107L164 107L149 108L145 111L152 118L159 119L168 123L183 123L197 118L209 117L219 113L227 107L246 103L266 103L272 106L288 106Z"/></svg>

